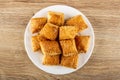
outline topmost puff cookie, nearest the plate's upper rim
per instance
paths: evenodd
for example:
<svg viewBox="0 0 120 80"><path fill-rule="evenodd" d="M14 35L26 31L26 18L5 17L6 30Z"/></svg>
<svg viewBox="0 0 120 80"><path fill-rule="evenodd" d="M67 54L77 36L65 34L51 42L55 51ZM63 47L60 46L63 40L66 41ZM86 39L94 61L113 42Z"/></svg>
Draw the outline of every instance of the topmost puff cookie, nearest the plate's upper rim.
<svg viewBox="0 0 120 80"><path fill-rule="evenodd" d="M53 11L49 11L48 12L48 22L61 26L64 24L64 14L61 12L53 12Z"/></svg>

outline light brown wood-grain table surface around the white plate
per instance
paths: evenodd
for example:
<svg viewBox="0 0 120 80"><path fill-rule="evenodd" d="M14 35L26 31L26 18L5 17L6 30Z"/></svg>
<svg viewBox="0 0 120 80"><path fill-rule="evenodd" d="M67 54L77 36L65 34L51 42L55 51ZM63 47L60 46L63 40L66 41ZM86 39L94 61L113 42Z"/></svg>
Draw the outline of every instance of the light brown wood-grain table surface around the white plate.
<svg viewBox="0 0 120 80"><path fill-rule="evenodd" d="M29 19L55 4L83 12L95 31L95 48L88 63L67 75L38 69L24 48ZM120 80L120 0L0 0L0 80Z"/></svg>

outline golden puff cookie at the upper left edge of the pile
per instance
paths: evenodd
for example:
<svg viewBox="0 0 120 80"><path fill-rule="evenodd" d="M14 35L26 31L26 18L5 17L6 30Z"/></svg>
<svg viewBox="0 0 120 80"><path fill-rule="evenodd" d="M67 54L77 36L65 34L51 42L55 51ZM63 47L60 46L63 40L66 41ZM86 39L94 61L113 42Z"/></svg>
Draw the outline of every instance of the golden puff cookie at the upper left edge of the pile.
<svg viewBox="0 0 120 80"><path fill-rule="evenodd" d="M31 32L36 33L40 31L47 22L47 18L40 17L40 18L32 18L31 19Z"/></svg>

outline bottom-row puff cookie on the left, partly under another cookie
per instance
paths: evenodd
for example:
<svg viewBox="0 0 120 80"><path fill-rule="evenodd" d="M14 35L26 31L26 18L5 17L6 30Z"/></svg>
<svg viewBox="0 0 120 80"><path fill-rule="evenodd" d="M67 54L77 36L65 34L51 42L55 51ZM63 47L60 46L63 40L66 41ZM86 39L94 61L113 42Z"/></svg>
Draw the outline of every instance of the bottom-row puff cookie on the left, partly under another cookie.
<svg viewBox="0 0 120 80"><path fill-rule="evenodd" d="M58 65L60 63L60 55L44 55L43 56L43 65Z"/></svg>

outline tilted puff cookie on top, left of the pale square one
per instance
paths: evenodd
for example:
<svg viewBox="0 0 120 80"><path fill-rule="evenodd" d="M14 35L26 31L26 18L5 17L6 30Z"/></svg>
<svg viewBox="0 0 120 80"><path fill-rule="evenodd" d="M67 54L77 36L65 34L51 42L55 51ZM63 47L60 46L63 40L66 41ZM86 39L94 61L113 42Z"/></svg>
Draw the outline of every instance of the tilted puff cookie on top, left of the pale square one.
<svg viewBox="0 0 120 80"><path fill-rule="evenodd" d="M40 35L49 40L55 40L58 36L58 26L51 23L46 23L40 31Z"/></svg>

